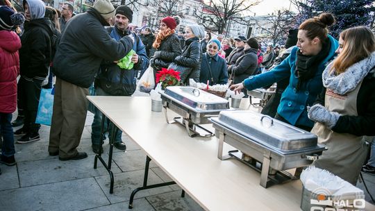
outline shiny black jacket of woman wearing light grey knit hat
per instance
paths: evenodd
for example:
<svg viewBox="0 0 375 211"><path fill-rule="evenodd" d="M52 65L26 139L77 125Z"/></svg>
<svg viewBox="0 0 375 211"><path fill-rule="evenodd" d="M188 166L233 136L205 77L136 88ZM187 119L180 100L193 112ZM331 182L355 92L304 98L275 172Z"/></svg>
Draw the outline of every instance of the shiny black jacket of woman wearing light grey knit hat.
<svg viewBox="0 0 375 211"><path fill-rule="evenodd" d="M201 74L202 49L198 37L192 37L185 41L185 47L181 56L174 59L177 65L183 67L192 67L190 73L181 73L181 81L187 83L189 78L199 82L199 75Z"/></svg>

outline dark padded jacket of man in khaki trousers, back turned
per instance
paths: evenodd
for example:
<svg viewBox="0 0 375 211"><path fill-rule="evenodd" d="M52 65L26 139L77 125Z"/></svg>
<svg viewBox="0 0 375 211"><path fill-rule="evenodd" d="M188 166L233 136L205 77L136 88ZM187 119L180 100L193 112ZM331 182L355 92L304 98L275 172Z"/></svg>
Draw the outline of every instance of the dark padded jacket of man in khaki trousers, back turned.
<svg viewBox="0 0 375 211"><path fill-rule="evenodd" d="M108 23L94 8L67 22L53 59L53 73L58 78L88 88L103 59L120 60L131 51L130 37L117 42L103 26Z"/></svg>

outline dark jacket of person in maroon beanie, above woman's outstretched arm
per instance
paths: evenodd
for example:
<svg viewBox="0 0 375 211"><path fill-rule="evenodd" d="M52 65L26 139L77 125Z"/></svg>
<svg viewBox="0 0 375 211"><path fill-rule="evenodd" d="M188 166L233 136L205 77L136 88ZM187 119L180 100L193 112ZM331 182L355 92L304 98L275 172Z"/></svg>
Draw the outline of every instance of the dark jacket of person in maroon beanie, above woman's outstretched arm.
<svg viewBox="0 0 375 211"><path fill-rule="evenodd" d="M258 67L258 49L244 50L244 56L238 58L235 65L228 67L228 72L234 74L234 83L241 83L244 79L249 78Z"/></svg>

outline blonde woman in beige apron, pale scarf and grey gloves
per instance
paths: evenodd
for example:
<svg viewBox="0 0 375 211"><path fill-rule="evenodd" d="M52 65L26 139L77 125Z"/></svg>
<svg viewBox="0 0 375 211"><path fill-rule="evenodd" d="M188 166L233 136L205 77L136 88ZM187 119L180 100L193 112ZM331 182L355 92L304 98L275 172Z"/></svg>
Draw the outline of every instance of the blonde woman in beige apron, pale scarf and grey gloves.
<svg viewBox="0 0 375 211"><path fill-rule="evenodd" d="M342 31L339 43L308 117L316 122L311 132L328 147L314 165L356 185L367 155L363 136L375 135L375 37L358 26Z"/></svg>

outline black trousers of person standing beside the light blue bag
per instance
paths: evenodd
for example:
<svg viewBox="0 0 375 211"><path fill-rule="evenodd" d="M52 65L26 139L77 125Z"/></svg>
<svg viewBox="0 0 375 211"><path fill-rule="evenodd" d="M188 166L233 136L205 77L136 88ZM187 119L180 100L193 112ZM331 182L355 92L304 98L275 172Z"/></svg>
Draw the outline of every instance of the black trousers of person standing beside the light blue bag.
<svg viewBox="0 0 375 211"><path fill-rule="evenodd" d="M40 124L35 124L38 112L40 91L42 90L42 80L26 80L21 76L18 81L18 97L22 101L24 108L24 130L28 133L38 133Z"/></svg>

